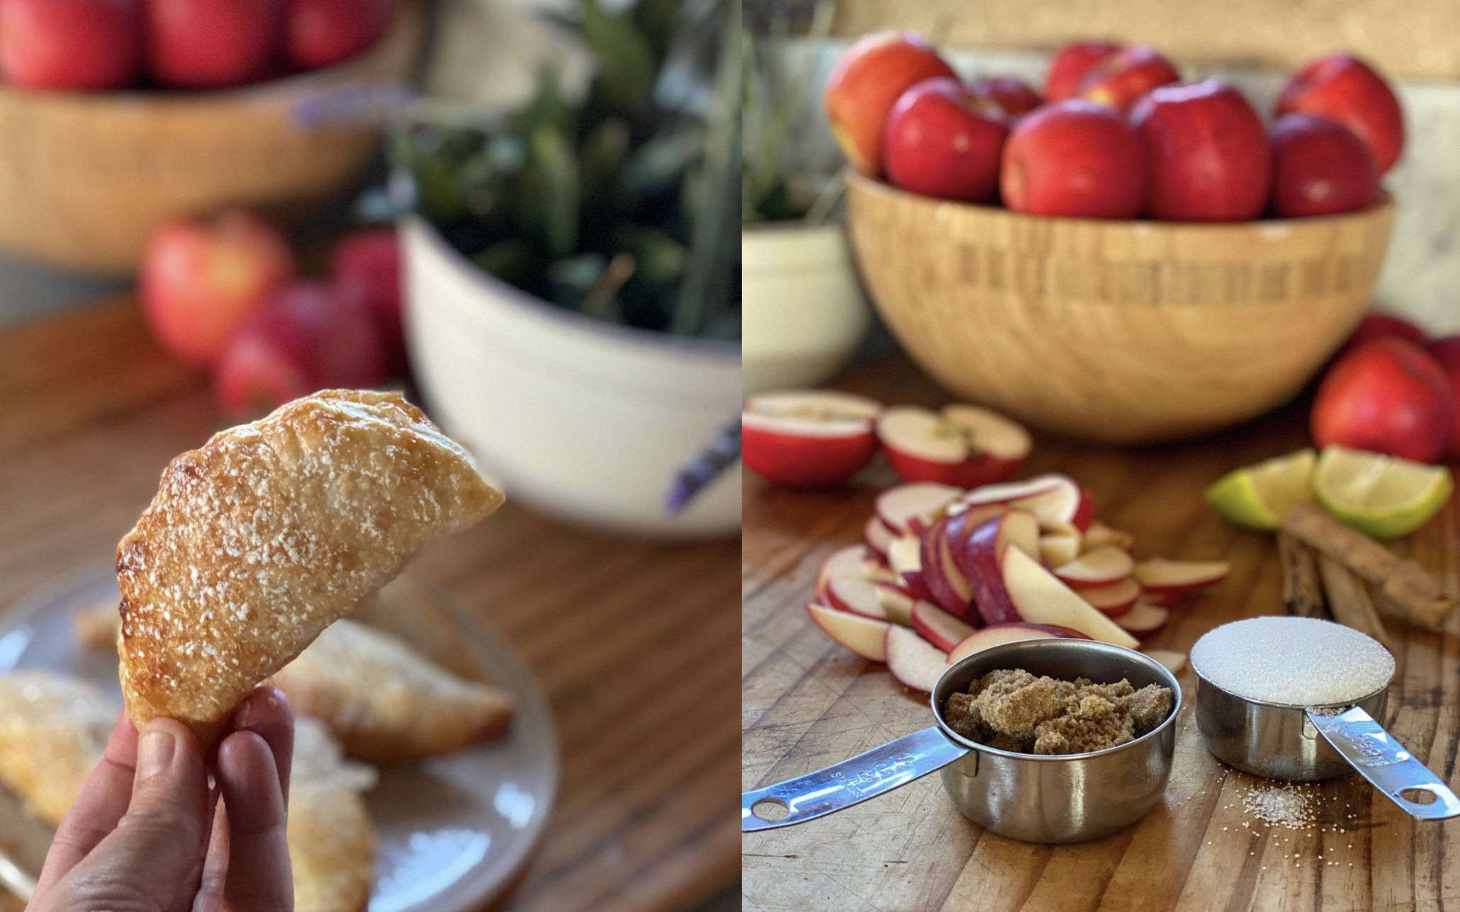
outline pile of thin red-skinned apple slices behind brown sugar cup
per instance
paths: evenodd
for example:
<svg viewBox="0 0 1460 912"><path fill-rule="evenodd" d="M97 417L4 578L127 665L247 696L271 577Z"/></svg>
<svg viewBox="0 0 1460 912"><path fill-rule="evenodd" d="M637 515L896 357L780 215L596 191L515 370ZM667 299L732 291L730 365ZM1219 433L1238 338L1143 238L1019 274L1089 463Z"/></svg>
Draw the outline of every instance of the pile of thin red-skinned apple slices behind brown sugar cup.
<svg viewBox="0 0 1460 912"><path fill-rule="evenodd" d="M1095 519L1089 492L1061 474L972 490L891 487L864 533L821 566L807 610L838 644L924 692L950 662L999 644L1137 648L1228 572L1225 562L1137 562L1132 537ZM1186 662L1149 655L1172 671Z"/></svg>

